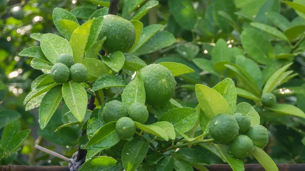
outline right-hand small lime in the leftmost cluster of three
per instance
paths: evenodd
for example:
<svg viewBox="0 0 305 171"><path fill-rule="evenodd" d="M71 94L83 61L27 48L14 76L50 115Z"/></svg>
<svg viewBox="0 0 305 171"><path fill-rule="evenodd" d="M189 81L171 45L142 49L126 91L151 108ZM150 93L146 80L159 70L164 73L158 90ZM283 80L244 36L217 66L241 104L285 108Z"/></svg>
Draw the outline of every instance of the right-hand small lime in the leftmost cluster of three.
<svg viewBox="0 0 305 171"><path fill-rule="evenodd" d="M70 67L71 80L77 83L82 83L87 80L88 73L86 66L82 63L75 63Z"/></svg>

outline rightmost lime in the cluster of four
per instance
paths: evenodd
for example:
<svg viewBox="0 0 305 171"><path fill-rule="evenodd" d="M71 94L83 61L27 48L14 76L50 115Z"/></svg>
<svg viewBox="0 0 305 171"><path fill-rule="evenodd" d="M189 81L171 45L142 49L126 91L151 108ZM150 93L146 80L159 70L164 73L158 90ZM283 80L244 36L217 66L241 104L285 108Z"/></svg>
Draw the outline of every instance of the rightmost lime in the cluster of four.
<svg viewBox="0 0 305 171"><path fill-rule="evenodd" d="M268 130L262 125L251 126L246 132L246 135L249 136L253 144L259 148L264 148L268 144Z"/></svg>

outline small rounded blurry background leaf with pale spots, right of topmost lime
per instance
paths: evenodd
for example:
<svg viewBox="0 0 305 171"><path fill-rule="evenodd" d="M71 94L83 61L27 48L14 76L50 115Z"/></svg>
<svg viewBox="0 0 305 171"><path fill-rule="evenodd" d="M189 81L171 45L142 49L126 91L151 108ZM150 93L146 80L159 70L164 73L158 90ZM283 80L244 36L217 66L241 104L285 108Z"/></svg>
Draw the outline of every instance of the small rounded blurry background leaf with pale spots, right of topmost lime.
<svg viewBox="0 0 305 171"><path fill-rule="evenodd" d="M182 56L189 60L192 60L196 57L199 52L199 47L194 43L190 42L187 44L180 45L176 48L176 51Z"/></svg>

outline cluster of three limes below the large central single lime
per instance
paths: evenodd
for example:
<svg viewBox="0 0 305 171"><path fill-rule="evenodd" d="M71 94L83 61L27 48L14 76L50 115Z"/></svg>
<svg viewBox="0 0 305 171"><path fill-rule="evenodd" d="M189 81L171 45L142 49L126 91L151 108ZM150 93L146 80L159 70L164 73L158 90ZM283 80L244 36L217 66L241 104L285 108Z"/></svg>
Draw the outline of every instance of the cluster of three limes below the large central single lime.
<svg viewBox="0 0 305 171"><path fill-rule="evenodd" d="M111 100L100 110L105 123L117 121L115 130L121 139L129 139L136 132L134 121L144 123L148 119L148 111L144 104L134 102L128 108L118 100Z"/></svg>

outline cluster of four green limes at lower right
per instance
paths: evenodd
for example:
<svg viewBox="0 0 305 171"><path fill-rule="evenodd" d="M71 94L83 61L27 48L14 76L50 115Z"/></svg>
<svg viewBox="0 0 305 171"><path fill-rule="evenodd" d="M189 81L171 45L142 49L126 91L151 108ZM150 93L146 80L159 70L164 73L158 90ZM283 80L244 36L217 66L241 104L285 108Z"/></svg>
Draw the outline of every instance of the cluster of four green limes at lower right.
<svg viewBox="0 0 305 171"><path fill-rule="evenodd" d="M209 132L214 140L221 144L230 143L234 157L242 159L249 156L254 146L264 148L268 144L268 131L262 125L251 126L246 115L216 115L209 124Z"/></svg>

